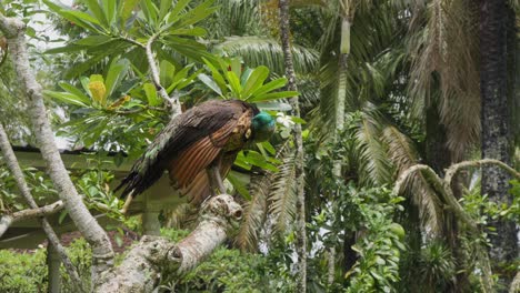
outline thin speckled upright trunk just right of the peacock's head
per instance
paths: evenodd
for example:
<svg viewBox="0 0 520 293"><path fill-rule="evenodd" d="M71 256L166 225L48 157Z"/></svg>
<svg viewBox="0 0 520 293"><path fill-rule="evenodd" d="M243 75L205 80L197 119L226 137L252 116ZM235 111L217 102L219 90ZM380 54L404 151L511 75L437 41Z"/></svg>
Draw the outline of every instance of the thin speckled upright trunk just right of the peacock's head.
<svg viewBox="0 0 520 293"><path fill-rule="evenodd" d="M280 0L280 38L283 50L283 61L286 64L286 75L289 80L288 88L297 91L294 65L292 63L292 52L290 44L289 27L289 0ZM290 100L292 115L300 117L300 105L298 98ZM301 137L301 124L294 125L294 145L296 145L296 178L297 178L297 211L298 211L298 292L307 291L307 230L306 230L306 193L304 193L304 171L303 171L303 139Z"/></svg>

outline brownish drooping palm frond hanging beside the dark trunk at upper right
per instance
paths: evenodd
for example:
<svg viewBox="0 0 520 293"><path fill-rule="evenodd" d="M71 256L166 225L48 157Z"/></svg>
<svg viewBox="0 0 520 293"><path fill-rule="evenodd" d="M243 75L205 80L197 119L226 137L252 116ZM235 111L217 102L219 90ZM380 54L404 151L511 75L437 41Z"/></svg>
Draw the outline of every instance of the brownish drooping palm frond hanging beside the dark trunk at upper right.
<svg viewBox="0 0 520 293"><path fill-rule="evenodd" d="M439 113L447 127L448 148L461 158L480 133L478 10L469 0L436 0L417 13L426 17L410 40L410 93L429 107L430 91L440 83ZM423 109L416 110L422 115Z"/></svg>

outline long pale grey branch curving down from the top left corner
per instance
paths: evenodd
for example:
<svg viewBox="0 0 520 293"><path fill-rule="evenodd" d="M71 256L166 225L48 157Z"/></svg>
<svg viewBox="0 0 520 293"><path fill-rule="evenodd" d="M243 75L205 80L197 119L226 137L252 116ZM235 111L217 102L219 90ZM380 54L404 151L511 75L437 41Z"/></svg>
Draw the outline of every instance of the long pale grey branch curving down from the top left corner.
<svg viewBox="0 0 520 293"><path fill-rule="evenodd" d="M63 201L70 218L78 230L92 246L92 280L113 264L113 251L110 240L96 219L90 214L78 194L61 160L54 142L54 134L47 117L43 104L42 89L37 82L33 70L29 64L24 38L26 26L22 21L6 18L0 13L0 30L8 39L10 58L29 104L32 131L37 138L49 175Z"/></svg>

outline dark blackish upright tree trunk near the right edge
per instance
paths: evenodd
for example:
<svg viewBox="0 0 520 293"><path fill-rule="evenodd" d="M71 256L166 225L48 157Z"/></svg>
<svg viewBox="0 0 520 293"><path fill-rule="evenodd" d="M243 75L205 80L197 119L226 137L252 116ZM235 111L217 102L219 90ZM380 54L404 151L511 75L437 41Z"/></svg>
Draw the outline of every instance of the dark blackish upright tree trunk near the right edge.
<svg viewBox="0 0 520 293"><path fill-rule="evenodd" d="M480 2L480 90L482 102L482 158L511 163L509 145L508 67L507 67L507 1ZM510 176L497 166L482 166L482 193L498 204L511 203L508 195ZM513 222L491 221L496 233L490 235L490 256L503 265L518 256L517 231ZM498 267L496 267L497 270ZM512 276L499 273L499 290L506 290Z"/></svg>

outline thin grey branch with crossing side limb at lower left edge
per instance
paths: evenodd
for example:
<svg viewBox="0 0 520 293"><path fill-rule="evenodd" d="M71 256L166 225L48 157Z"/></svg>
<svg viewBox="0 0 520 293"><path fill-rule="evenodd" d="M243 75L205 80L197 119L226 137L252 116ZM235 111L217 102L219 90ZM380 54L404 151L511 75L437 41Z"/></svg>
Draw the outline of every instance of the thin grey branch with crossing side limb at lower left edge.
<svg viewBox="0 0 520 293"><path fill-rule="evenodd" d="M24 211L20 211L20 212L12 214L12 218L10 221L11 223L17 220L24 219L28 216L36 216L37 214L44 215L47 213L57 212L58 210L60 210L60 208L63 206L63 203L60 201L51 205L38 208L38 204L36 203L34 199L31 195L29 185L26 182L23 172L20 165L18 164L18 160L14 155L14 151L12 150L11 144L9 143L9 139L1 123L0 123L0 149L2 150L3 159L6 160L9 170L11 170L11 173L14 176L14 180L18 184L18 189L20 190L21 194L26 199L29 206L32 208L32 210L24 210ZM0 221L0 222L4 222L4 221ZM84 292L81 285L81 279L79 277L78 271L76 270L74 265L72 264L69 256L67 255L63 246L60 243L60 240L58 239L58 235L56 234L52 226L49 224L49 221L47 221L46 218L42 218L41 224L49 240L49 245L54 246L56 251L60 255L61 261L63 265L66 266L67 272L69 273L70 277L72 279L74 286L77 287L78 291ZM6 225L6 230L8 226L9 225ZM3 234L4 232L1 230L2 228L0 226L0 235Z"/></svg>

